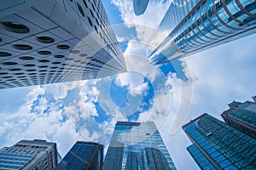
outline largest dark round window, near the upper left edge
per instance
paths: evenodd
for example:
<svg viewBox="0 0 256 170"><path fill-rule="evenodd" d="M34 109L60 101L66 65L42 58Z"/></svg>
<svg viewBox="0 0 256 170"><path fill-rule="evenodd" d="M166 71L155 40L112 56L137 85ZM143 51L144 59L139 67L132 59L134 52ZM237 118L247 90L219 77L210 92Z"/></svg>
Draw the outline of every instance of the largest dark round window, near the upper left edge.
<svg viewBox="0 0 256 170"><path fill-rule="evenodd" d="M29 29L28 27L20 24L19 22L1 22L2 25L3 25L3 29L6 30L6 31L11 31L11 32L15 32L15 33L20 33L20 34L23 34L23 33L27 33L29 32Z"/></svg>

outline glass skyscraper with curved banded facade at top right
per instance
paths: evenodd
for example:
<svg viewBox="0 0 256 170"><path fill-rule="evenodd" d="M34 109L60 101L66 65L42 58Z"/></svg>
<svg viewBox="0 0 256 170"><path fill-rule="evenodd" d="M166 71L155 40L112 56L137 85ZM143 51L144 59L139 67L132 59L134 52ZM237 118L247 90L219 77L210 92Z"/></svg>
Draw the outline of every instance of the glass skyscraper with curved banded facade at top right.
<svg viewBox="0 0 256 170"><path fill-rule="evenodd" d="M149 54L155 65L255 33L255 1L174 0L160 23L168 37Z"/></svg>

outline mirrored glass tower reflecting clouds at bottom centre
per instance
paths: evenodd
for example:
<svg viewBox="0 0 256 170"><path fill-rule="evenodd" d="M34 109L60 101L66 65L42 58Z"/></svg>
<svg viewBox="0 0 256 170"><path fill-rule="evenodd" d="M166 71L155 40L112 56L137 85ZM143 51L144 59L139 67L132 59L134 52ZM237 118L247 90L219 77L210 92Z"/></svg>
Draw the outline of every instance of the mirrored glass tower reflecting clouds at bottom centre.
<svg viewBox="0 0 256 170"><path fill-rule="evenodd" d="M154 122L117 122L102 169L176 167Z"/></svg>

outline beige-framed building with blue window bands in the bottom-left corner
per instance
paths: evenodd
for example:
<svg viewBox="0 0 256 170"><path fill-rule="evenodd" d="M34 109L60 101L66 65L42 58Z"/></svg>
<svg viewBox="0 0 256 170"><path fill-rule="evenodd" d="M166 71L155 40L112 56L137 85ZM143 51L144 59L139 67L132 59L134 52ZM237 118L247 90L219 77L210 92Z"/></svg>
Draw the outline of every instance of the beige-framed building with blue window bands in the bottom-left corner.
<svg viewBox="0 0 256 170"><path fill-rule="evenodd" d="M45 140L21 140L0 150L0 169L49 170L56 165L56 144Z"/></svg>

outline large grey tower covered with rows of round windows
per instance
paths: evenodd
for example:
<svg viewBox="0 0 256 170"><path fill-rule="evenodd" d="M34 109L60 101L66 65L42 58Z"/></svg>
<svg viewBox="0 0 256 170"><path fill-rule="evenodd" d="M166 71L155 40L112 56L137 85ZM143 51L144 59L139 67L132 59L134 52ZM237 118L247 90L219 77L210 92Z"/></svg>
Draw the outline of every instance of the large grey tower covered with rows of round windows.
<svg viewBox="0 0 256 170"><path fill-rule="evenodd" d="M0 88L126 71L101 0L2 1L0 32Z"/></svg>

